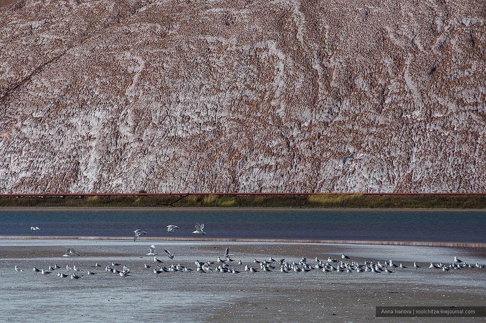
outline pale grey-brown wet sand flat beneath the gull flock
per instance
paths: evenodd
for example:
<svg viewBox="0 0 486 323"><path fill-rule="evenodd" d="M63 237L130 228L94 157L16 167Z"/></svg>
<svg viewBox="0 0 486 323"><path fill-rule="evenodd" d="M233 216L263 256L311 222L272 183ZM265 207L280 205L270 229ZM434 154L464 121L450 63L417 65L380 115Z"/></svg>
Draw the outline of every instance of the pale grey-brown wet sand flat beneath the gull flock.
<svg viewBox="0 0 486 323"><path fill-rule="evenodd" d="M156 245L162 265L183 264L191 273L152 272ZM73 247L81 256L62 257ZM230 266L240 274L198 274L194 260L214 261L229 247ZM175 252L174 260L164 253ZM306 257L340 259L346 253L361 263L393 259L407 269L394 273L270 273L244 272L254 259L285 258L298 262ZM468 268L442 272L428 269L428 262L449 263L458 256L468 263L486 263L482 248L431 246L288 243L201 242L126 240L0 240L0 317L4 322L388 322L376 318L376 306L485 306L486 270ZM236 265L242 260L243 265ZM349 261L350 261L349 260ZM107 274L104 266L115 261L131 275ZM422 267L413 269L413 261ZM98 262L101 268L93 268ZM47 269L57 263L78 266L74 280L35 274L33 266ZM152 268L144 268L144 263ZM22 268L16 272L14 266ZM217 264L212 265L213 268ZM121 269L121 268L120 268ZM87 275L87 271L96 275ZM72 271L70 271L72 272ZM485 318L393 318L393 322L484 322Z"/></svg>

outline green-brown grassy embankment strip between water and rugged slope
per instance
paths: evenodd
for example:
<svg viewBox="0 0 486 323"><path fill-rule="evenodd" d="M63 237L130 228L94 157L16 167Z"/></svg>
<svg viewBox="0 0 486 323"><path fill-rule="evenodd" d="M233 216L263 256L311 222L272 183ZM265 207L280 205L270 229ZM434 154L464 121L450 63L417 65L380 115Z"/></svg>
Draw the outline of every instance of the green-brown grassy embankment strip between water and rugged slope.
<svg viewBox="0 0 486 323"><path fill-rule="evenodd" d="M0 207L484 209L479 194L197 194L1 196Z"/></svg>

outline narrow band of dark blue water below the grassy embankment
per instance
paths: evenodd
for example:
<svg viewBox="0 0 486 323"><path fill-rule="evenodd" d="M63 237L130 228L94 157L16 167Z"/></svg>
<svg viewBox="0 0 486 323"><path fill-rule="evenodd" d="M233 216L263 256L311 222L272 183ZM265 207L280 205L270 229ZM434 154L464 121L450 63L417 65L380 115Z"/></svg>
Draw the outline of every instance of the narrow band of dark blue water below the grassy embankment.
<svg viewBox="0 0 486 323"><path fill-rule="evenodd" d="M183 238L196 236L196 222L208 238L486 242L486 210L0 210L1 235L121 237L139 228L166 237L174 224L170 236Z"/></svg>

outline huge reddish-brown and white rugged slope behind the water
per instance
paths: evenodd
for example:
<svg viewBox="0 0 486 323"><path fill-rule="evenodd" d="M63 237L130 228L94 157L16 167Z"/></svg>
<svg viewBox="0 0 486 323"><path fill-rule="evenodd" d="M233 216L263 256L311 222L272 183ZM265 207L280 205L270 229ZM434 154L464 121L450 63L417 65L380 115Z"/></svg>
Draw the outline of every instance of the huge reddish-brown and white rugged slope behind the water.
<svg viewBox="0 0 486 323"><path fill-rule="evenodd" d="M0 193L486 192L485 20L482 0L14 1Z"/></svg>

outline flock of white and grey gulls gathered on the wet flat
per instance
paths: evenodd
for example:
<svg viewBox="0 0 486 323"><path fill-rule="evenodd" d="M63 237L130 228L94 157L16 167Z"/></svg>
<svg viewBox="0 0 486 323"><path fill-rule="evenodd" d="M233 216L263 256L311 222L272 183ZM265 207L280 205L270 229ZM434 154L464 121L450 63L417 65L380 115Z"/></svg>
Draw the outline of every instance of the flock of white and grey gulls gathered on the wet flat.
<svg viewBox="0 0 486 323"><path fill-rule="evenodd" d="M203 225L200 226L200 229L203 229ZM143 232L143 231L142 231ZM164 249L164 252L167 254L167 258L170 260L174 260L174 252L171 252L167 249ZM63 257L73 257L73 256L80 256L73 248L69 248L66 250ZM157 258L156 253L156 246L152 244L149 246L149 253L145 254L145 256L154 256L154 264L150 265L145 263L144 268L145 270L151 270L154 274L158 275L161 273L170 273L170 272L184 272L184 273L191 273L194 269L191 269L187 265L182 264L170 264L170 265L163 265L163 261ZM232 259L230 256L233 254L229 253L229 247L226 248L225 254L222 256L217 256L216 260L214 261L200 261L196 259L194 261L195 264L195 271L200 275L203 274L216 274L216 273L231 273L231 274L239 274L241 272L249 272L249 273L269 273L274 271L279 271L281 273L308 273L311 271L322 271L324 273L329 272L336 272L336 273L375 273L375 274L393 274L397 273L400 270L405 270L408 267L404 266L402 263L397 265L393 262L393 260L385 260L383 263L378 261L376 264L373 262L368 262L364 260L363 263L360 263L356 260L349 261L350 257L345 255L344 253L341 254L341 259L334 259L329 257L327 260L320 260L315 258L314 263L310 263L307 258L302 257L298 259L298 261L286 261L286 259L276 260L272 257L263 260L257 260L256 258L250 264L243 264L242 260L236 261ZM111 262L108 265L101 265L96 263L92 268L99 269L100 267L104 267L104 270L108 274L115 274L120 275L121 277L127 277L131 275L130 269L123 265L121 267L121 263ZM152 268L154 267L154 268ZM421 267L414 262L413 265L415 270L420 269ZM447 272L449 270L459 270L464 268L478 268L484 269L485 265L481 265L478 263L475 264L467 264L464 261L460 260L457 257L454 257L454 260L451 263L443 264L443 263L430 263L429 269L433 270L441 270L443 272ZM279 269L278 269L279 268ZM427 267L425 267L427 268ZM61 266L58 266L57 263L54 266L49 266L48 269L38 269L36 266L33 267L33 271L35 274L41 273L42 275L49 275L52 274L54 271L58 271L61 269ZM411 268L410 268L411 269ZM16 272L23 272L22 269L15 266ZM72 271L72 272L71 272ZM61 278L70 277L71 279L79 279L83 277L81 268L73 265L70 267L66 265L66 272L62 273L58 271L57 276ZM87 275L96 275L97 273L94 271L87 271Z"/></svg>

